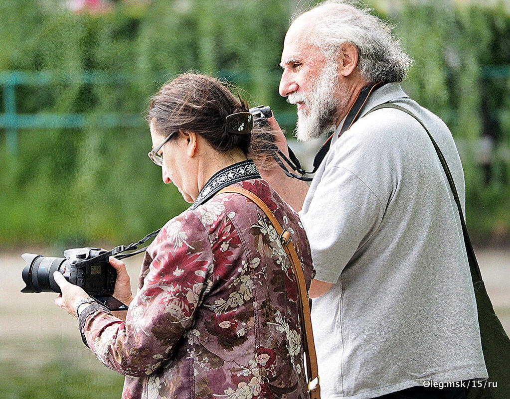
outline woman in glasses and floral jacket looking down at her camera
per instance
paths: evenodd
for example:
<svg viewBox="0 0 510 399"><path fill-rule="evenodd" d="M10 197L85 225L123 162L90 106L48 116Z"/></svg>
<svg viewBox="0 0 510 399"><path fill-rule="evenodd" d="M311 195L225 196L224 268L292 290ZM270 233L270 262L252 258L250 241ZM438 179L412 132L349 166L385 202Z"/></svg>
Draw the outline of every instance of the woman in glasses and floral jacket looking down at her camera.
<svg viewBox="0 0 510 399"><path fill-rule="evenodd" d="M261 135L250 133L247 112L202 75L181 75L152 98L149 157L192 205L147 249L134 297L124 264L110 259L114 296L129 305L125 321L97 304L76 311L88 295L55 274L62 289L56 304L78 313L84 342L126 376L124 398L309 397L297 287L282 243L254 202L218 194L241 187L268 205L292 233L308 289L307 237L250 159L251 137Z"/></svg>

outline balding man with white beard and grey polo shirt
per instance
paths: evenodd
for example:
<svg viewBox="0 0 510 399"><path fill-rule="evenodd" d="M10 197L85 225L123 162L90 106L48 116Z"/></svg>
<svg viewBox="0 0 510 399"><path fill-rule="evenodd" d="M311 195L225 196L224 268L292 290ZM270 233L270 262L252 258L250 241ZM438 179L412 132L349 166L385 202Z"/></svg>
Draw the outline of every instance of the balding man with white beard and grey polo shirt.
<svg viewBox="0 0 510 399"><path fill-rule="evenodd" d="M279 92L297 105L297 138L335 130L310 187L276 167L264 176L301 209L309 236L323 398L457 399L464 381L487 378L461 224L439 158L414 117L369 113L394 103L421 120L464 202L450 131L400 88L410 63L385 23L345 2L301 14L285 37ZM284 151L281 133L276 141Z"/></svg>

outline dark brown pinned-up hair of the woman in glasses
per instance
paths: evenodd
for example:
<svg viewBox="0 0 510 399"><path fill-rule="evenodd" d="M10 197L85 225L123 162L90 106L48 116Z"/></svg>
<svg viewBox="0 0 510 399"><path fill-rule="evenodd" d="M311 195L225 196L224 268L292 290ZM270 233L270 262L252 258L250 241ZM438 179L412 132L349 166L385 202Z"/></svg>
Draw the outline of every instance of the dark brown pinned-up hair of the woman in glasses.
<svg viewBox="0 0 510 399"><path fill-rule="evenodd" d="M260 151L250 147L252 136L261 136L253 134L258 128L253 127L251 134L236 135L227 132L225 125L227 115L247 112L248 108L243 99L232 94L218 79L184 73L163 85L151 98L146 119L164 136L194 132L218 151L241 149L253 157L252 152Z"/></svg>

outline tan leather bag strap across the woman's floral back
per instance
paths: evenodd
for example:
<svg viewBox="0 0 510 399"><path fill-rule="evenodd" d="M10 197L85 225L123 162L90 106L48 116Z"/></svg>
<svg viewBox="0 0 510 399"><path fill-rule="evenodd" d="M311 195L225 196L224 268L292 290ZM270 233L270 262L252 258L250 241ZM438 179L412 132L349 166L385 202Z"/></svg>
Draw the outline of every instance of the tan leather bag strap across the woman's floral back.
<svg viewBox="0 0 510 399"><path fill-rule="evenodd" d="M303 269L301 267L301 263L299 261L299 257L297 255L296 249L292 244L291 234L286 229L282 228L282 225L278 222L278 220L271 212L271 209L255 194L252 192L245 190L241 187L225 187L218 191L220 193L236 193L241 194L251 201L253 201L269 218L271 223L273 224L276 233L280 237L280 240L283 244L285 252L290 259L292 264L292 270L294 271L294 276L296 278L297 290L299 295L299 311L300 311L300 320L301 320L301 330L303 331L304 337L304 349L307 358L307 375L308 375L308 390L310 392L311 399L320 399L320 379L318 374L317 367L317 355L315 354L315 344L314 344L314 336L312 332L312 319L310 316L310 303L307 294L307 286L304 281ZM310 388L310 384L317 379L317 384L314 388Z"/></svg>

